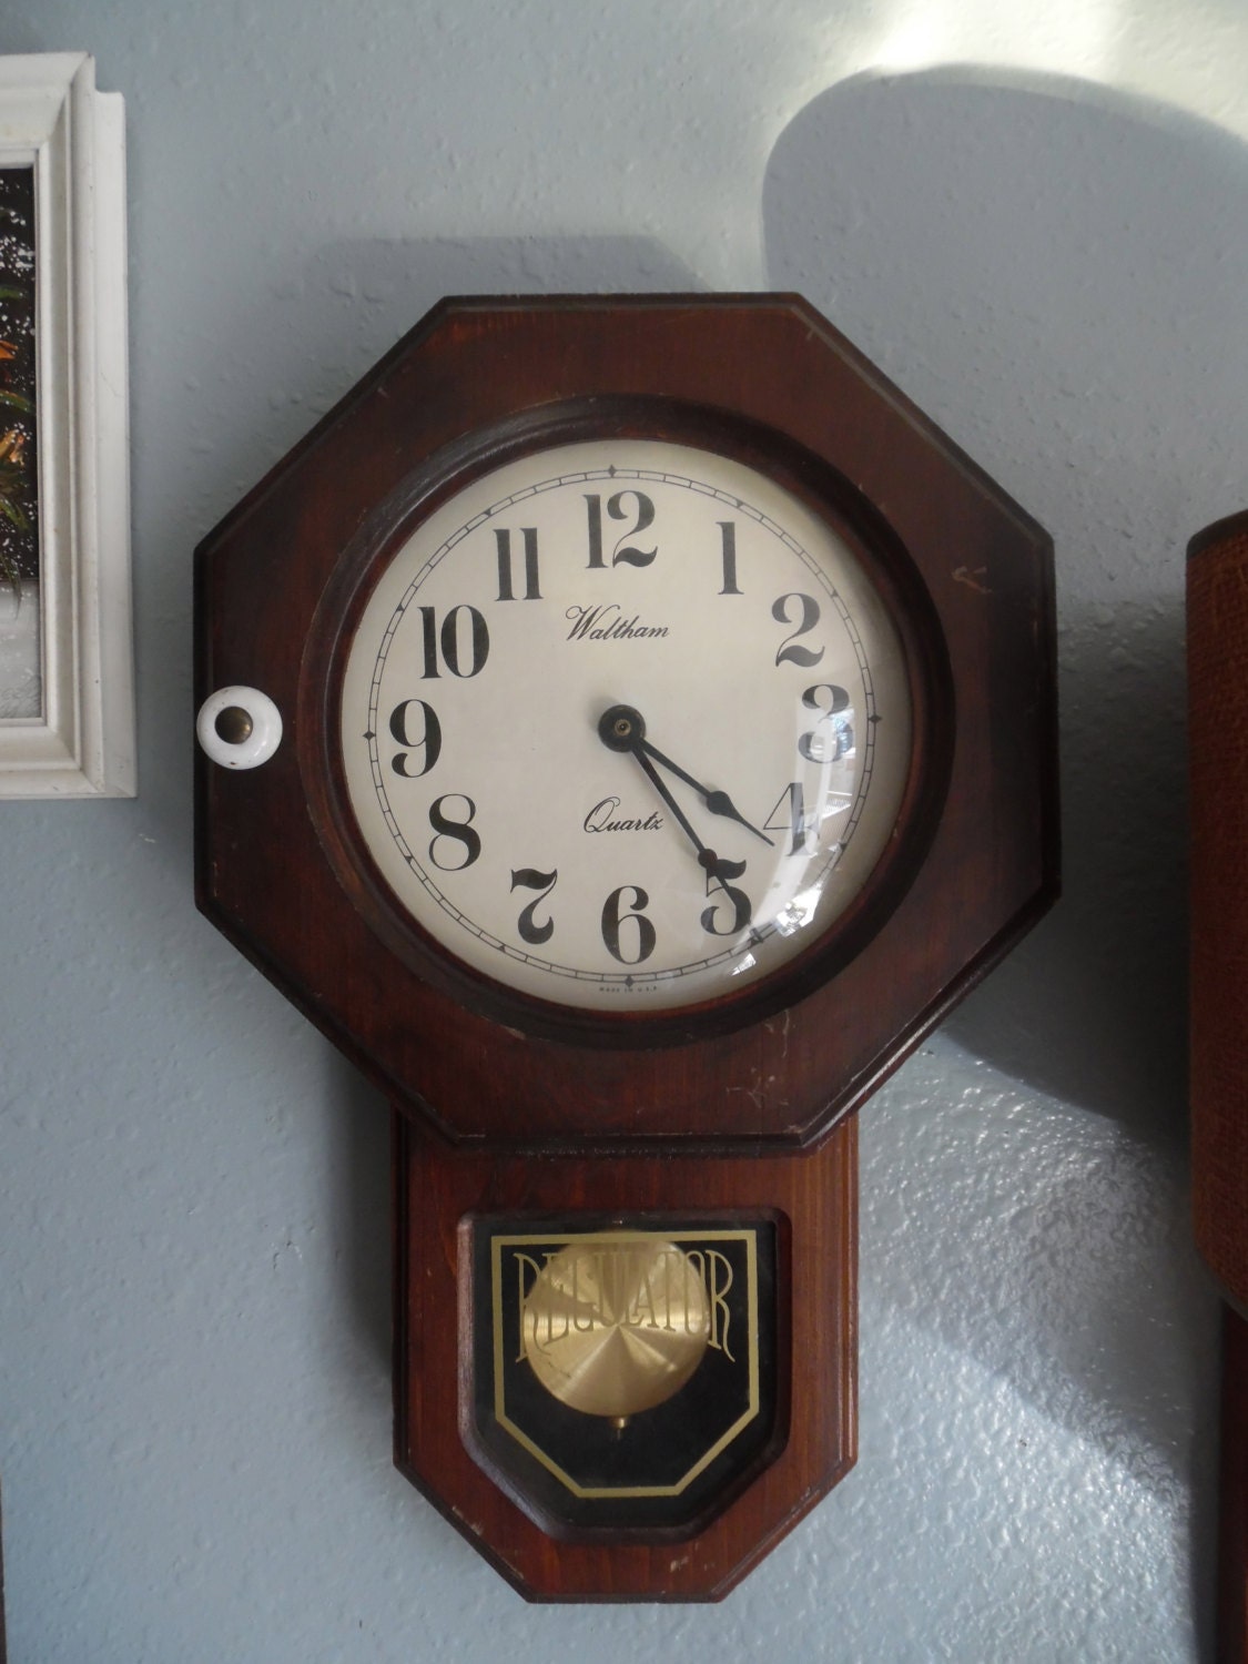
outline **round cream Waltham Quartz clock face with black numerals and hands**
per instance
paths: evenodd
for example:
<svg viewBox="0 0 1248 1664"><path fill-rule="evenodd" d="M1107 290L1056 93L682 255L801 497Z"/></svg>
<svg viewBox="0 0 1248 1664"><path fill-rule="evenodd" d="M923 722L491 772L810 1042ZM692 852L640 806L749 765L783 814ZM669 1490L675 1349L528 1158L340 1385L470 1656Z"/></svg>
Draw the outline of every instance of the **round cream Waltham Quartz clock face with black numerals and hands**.
<svg viewBox="0 0 1248 1664"><path fill-rule="evenodd" d="M897 825L910 682L847 534L712 451L594 439L443 501L346 651L341 762L401 915L596 1012L757 983Z"/></svg>

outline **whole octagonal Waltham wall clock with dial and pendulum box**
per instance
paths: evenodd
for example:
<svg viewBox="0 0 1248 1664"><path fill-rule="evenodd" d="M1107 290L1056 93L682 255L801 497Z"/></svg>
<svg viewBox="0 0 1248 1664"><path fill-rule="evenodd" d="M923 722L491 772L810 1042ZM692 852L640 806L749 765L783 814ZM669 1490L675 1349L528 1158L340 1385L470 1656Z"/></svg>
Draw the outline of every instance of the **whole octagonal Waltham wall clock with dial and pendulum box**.
<svg viewBox="0 0 1248 1664"><path fill-rule="evenodd" d="M196 582L200 905L394 1107L398 1464L724 1594L854 1461L852 1112L1055 894L1045 534L797 298L469 300Z"/></svg>

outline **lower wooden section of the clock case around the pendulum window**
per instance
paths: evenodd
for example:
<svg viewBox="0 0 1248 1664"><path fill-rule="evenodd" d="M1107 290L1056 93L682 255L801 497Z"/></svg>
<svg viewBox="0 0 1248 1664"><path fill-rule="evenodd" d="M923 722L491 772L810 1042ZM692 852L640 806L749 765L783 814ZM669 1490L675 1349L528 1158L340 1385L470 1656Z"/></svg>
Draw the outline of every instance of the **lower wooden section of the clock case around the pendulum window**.
<svg viewBox="0 0 1248 1664"><path fill-rule="evenodd" d="M857 1122L799 1158L534 1161L454 1150L398 1108L393 1137L399 1469L529 1599L727 1594L854 1464ZM621 1220L760 1233L760 1426L684 1504L561 1501L491 1431L483 1243L541 1220L551 1231Z"/></svg>

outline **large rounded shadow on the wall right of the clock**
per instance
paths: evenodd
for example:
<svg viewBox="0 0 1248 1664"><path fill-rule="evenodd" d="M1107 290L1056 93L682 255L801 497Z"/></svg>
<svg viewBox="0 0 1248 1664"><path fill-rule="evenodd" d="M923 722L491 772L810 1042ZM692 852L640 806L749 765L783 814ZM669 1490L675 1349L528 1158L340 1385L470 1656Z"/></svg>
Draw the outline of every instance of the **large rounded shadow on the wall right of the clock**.
<svg viewBox="0 0 1248 1664"><path fill-rule="evenodd" d="M1185 1135L1183 549L1248 481L1248 150L1063 83L855 80L780 136L807 295L1053 536L1065 899L948 1032ZM1095 102L1093 102L1095 100Z"/></svg>

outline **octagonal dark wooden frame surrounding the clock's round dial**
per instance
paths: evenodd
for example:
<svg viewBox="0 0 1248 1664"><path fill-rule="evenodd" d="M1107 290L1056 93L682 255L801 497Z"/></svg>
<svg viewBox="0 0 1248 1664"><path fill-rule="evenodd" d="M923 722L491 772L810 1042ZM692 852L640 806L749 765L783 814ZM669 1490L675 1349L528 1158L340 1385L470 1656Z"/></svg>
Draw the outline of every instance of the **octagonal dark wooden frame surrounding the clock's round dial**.
<svg viewBox="0 0 1248 1664"><path fill-rule="evenodd" d="M869 541L907 592L922 760L909 849L822 950L740 1005L607 1025L484 988L378 904L334 805L326 619L398 493L642 406L769 436L764 466ZM260 769L198 759L200 905L453 1143L817 1143L1057 892L1052 546L795 296L446 301L205 539L196 589L200 699L253 686L286 722Z"/></svg>

